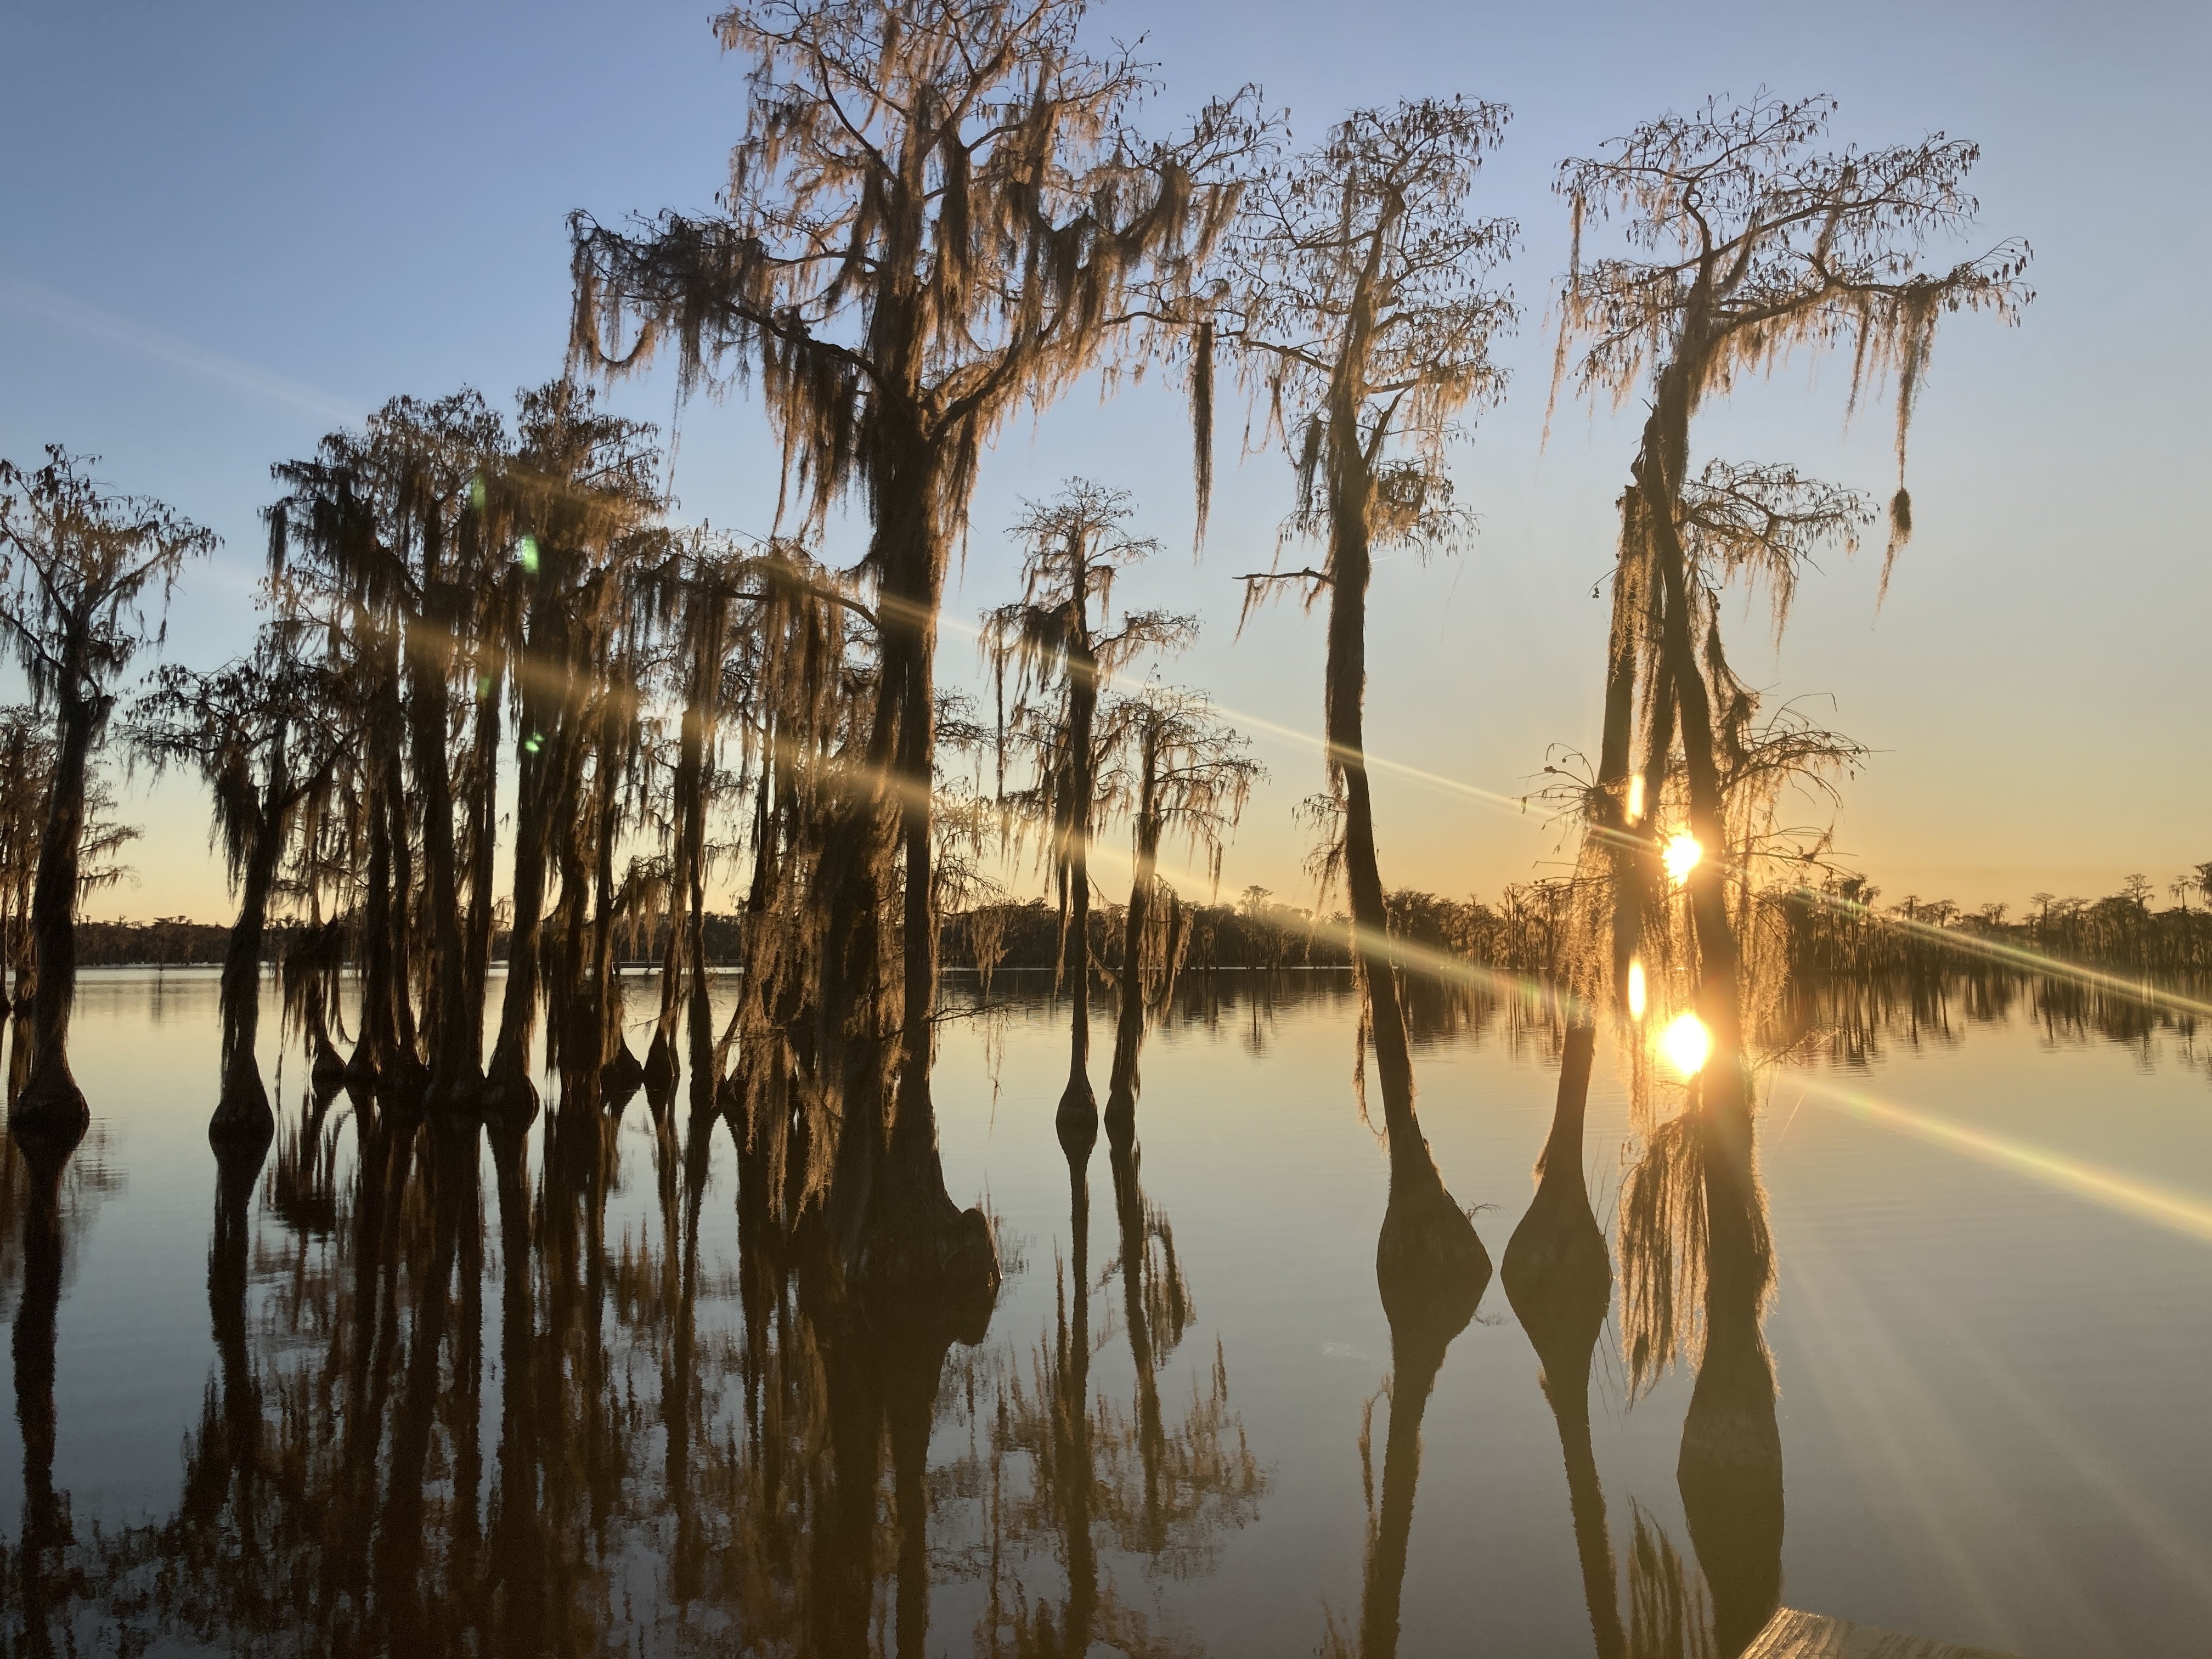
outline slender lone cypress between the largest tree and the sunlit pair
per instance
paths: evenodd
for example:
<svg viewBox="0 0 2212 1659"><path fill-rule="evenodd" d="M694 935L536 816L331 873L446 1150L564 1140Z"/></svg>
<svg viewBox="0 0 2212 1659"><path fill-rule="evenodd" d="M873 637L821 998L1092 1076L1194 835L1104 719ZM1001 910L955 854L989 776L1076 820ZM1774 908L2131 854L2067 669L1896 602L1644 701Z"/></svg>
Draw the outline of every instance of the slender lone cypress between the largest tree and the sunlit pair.
<svg viewBox="0 0 2212 1659"><path fill-rule="evenodd" d="M1367 790L1367 584L1380 542L1427 549L1464 526L1444 476L1453 418L1498 396L1491 334L1511 301L1482 285L1513 246L1506 219L1478 219L1469 192L1509 119L1462 97L1356 111L1316 150L1270 168L1230 241L1223 338L1267 398L1296 460L1294 533L1316 535L1321 568L1245 577L1252 604L1281 584L1329 602L1323 734L1389 1130L1391 1199L1378 1270L1394 1285L1489 1276L1473 1225L1444 1190L1413 1115L1413 1060L1391 978L1383 876Z"/></svg>

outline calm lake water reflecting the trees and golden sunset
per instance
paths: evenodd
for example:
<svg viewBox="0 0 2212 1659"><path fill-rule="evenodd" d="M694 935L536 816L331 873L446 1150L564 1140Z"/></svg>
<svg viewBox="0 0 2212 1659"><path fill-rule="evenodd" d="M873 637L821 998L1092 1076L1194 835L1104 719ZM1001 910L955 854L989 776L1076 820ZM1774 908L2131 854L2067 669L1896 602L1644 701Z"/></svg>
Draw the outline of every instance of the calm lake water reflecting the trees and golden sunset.
<svg viewBox="0 0 2212 1659"><path fill-rule="evenodd" d="M2042 1018L2033 991L1964 1006L1763 1073L1783 1601L2017 1655L2201 1655L2203 1060L2174 1031ZM1630 1405L1619 1301L1579 1528L1573 1380L1546 1398L1495 1281L1444 1352L1418 1471L1385 1467L1387 1168L1345 987L1188 987L1146 1048L1135 1172L1102 1139L1073 1190L1064 1042L1040 995L942 1026L947 1181L995 1214L1009 1267L984 1338L945 1347L816 1318L748 1261L728 1130L695 1146L681 1104L551 1108L504 1152L425 1133L378 1188L369 1119L314 1108L294 1055L279 1144L226 1210L212 975L88 973L44 1511L66 1537L35 1579L27 1354L55 1270L9 1164L0 1298L33 1398L0 1427L7 1644L1305 1655L1358 1650L1402 1548L1405 1655L1619 1652L1615 1628L1630 1652L1710 1650L1728 1562L1701 1564L1677 1491L1688 1367ZM1553 1033L1495 1006L1418 1066L1495 1256ZM1608 1232L1637 1146L1601 1042ZM1411 1511L1385 1504L1416 1473Z"/></svg>

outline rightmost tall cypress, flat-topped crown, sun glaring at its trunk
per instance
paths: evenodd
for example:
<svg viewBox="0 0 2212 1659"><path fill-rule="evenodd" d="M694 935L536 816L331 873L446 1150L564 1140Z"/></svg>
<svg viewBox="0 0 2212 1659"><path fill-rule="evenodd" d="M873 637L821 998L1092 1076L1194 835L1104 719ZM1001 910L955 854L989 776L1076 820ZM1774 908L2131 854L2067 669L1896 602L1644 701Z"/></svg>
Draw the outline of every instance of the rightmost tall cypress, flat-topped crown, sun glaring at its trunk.
<svg viewBox="0 0 2212 1659"><path fill-rule="evenodd" d="M1635 482L1621 498L1608 719L1619 719L1617 699L1635 697L1635 681L1621 684L1624 672L1632 672L1626 664L1657 664L1663 681L1646 697L1661 732L1666 726L1679 730L1690 834L1705 852L1688 872L1694 1006L1712 1031L1723 1071L1743 1055L1741 951L1728 916L1725 794L1732 752L1743 752L1747 706L1741 681L1725 668L1719 633L1703 615L1710 606L1701 604L1692 518L1701 502L1712 507L1721 495L1719 507L1725 507L1734 493L1756 513L1754 529L1781 507L1785 515L1809 511L1807 529L1832 533L1851 509L1823 500L1820 487L1794 473L1759 478L1708 469L1692 480L1692 416L1710 394L1725 394L1739 376L1798 349L1849 343L1854 396L1869 376L1893 372L1893 560L1911 531L1905 434L1938 319L1955 310L2008 316L2026 299L2020 283L2026 248L2017 243L1947 272L1916 265L1929 237L1955 234L1973 219L1975 201L1964 179L1975 146L1931 135L1880 150L1823 150L1832 111L1825 97L1790 102L1763 93L1743 106L1714 100L1694 115L1648 122L1595 159L1564 161L1557 181L1575 217L1575 257L1562 288L1562 372L1568 349L1579 345L1577 387L1615 403L1650 374ZM1588 219L1610 212L1626 215L1628 252L1584 263ZM1783 542L1803 549L1805 535ZM1721 544L1750 546L1730 535ZM1885 584L1887 571L1885 560ZM1639 635L1650 639L1650 650L1639 650ZM1648 748L1666 754L1668 743ZM1608 774L1608 768L1619 770ZM1628 792L1626 754L1610 741L1599 770L1601 796ZM1708 1170L1743 1186L1750 1179L1745 1079L1723 1071L1708 1068L1701 1082L1719 1137ZM1745 1206L1739 1192L1719 1208L1717 1225L1732 1225L1725 1217L1745 1214Z"/></svg>

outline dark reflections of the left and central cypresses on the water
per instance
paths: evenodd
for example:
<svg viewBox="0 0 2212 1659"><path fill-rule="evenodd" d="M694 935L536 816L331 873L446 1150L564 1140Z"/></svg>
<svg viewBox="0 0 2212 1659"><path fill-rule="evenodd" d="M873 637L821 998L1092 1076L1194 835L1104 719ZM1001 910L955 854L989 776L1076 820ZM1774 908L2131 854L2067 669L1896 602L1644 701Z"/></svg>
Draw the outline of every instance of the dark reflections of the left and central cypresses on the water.
<svg viewBox="0 0 2212 1659"><path fill-rule="evenodd" d="M181 1495L93 1537L51 1478L64 1208L18 1170L9 1650L66 1648L82 1613L102 1644L270 1655L907 1657L964 1635L931 1646L931 1593L958 1577L980 1579L993 1652L1179 1650L1135 1586L1206 1573L1265 1478L1219 1352L1164 1405L1194 1305L1133 1137L1110 1148L1113 1267L1093 1281L1075 1157L1046 1345L949 1365L989 1310L847 1292L783 1223L772 1113L692 1088L648 1135L622 1115L597 1077L535 1126L323 1091L272 1152L226 1155ZM701 1225L723 1133L734 1274ZM626 1144L648 1148L641 1230L611 1221ZM1091 1376L1117 1318L1128 1400Z"/></svg>

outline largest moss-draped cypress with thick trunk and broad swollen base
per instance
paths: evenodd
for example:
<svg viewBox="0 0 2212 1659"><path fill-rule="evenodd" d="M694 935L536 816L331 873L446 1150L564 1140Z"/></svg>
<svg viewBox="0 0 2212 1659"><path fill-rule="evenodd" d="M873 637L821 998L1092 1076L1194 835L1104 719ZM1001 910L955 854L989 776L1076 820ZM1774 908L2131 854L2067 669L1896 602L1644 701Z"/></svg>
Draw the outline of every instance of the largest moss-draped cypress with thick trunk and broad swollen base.
<svg viewBox="0 0 2212 1659"><path fill-rule="evenodd" d="M717 31L752 60L752 102L726 210L661 215L639 234L573 221L580 354L624 367L666 341L686 385L759 374L807 513L858 489L872 515L878 664L854 754L869 794L830 832L818 920L785 971L845 1033L821 1055L838 1066L823 1133L843 1124L832 1208L869 1194L869 1214L834 1230L847 1254L883 1245L878 1276L953 1259L989 1276L980 1217L945 1194L927 1075L933 648L975 460L1015 409L1121 347L1135 276L1210 252L1252 133L1232 102L1179 142L1133 135L1144 69L1086 53L1082 13L1077 0L737 7ZM894 885L896 1013L869 989Z"/></svg>

